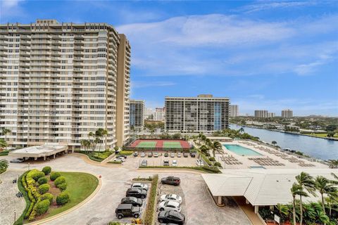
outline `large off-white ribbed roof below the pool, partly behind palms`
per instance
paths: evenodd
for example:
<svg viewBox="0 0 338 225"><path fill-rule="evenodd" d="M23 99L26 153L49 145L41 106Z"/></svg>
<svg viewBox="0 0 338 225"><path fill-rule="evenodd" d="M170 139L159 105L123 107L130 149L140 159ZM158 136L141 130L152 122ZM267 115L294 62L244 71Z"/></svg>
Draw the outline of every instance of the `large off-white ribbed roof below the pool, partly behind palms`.
<svg viewBox="0 0 338 225"><path fill-rule="evenodd" d="M333 179L331 173L338 174L338 169L223 169L222 172L202 174L214 196L241 195L251 205L277 205L292 202L290 188L301 172ZM316 200L319 198L304 198L304 201Z"/></svg>

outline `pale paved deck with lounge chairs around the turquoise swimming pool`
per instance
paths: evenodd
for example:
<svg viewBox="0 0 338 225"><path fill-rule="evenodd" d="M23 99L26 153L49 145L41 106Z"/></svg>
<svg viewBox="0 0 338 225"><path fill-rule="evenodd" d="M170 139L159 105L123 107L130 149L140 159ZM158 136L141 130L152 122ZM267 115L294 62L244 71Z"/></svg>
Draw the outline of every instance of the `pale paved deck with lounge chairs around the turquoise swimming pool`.
<svg viewBox="0 0 338 225"><path fill-rule="evenodd" d="M260 153L261 155L237 155L236 153L233 153L230 150L227 150L227 148L225 148L225 146L223 145L239 145L242 146L244 148L249 148L251 150L256 151L257 153ZM306 164L311 164L313 165L312 167L302 167L301 165L299 165L299 162L290 162L287 159L283 159L281 158L281 154L286 156L287 158L296 158L296 156L294 155L288 155L287 153L285 153L283 150L276 150L275 148L272 147L268 147L265 146L263 144L258 144L255 143L253 141L232 141L232 142L224 142L222 143L222 147L224 150L224 154L217 154L215 155L215 160L217 160L218 162L220 162L220 164L222 165L223 168L225 169L248 169L249 167L265 167L265 169L299 169L299 168L304 168L304 169L315 169L315 168L328 168L327 165L323 165L320 162L310 162L306 159L303 158L297 158L297 160L301 160L303 161L303 163ZM268 153L268 150L261 150L260 148L265 148L270 150L273 153ZM280 155L275 155L274 153L279 153ZM221 160L221 157L225 156L225 157L232 157L235 158L236 160L238 160L239 162L242 162L242 164L235 164L235 165L228 165L225 164L225 162L223 160ZM253 160L249 160L249 158L270 158L271 160L277 160L278 162L284 164L281 166L276 166L276 165L259 165L257 162L253 161Z"/></svg>

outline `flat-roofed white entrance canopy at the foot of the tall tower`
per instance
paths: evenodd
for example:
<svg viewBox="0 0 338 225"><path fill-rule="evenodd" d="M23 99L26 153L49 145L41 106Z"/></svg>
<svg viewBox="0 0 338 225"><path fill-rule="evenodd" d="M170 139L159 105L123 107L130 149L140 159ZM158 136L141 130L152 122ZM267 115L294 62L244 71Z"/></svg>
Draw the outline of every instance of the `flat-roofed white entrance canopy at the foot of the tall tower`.
<svg viewBox="0 0 338 225"><path fill-rule="evenodd" d="M67 153L67 150L67 146L61 145L31 146L18 150L12 150L8 155L18 158L35 158L35 160L37 160L37 158L43 157L44 160L46 160L47 156L53 155L55 158L56 153Z"/></svg>

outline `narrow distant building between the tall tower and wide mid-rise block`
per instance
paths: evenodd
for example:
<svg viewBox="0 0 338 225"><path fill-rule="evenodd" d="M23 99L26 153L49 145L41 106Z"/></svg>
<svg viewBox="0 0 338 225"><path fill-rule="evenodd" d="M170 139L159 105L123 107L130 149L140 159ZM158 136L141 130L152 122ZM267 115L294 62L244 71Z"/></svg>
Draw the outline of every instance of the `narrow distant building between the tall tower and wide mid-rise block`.
<svg viewBox="0 0 338 225"><path fill-rule="evenodd" d="M144 127L144 101L130 100L129 111L130 127Z"/></svg>

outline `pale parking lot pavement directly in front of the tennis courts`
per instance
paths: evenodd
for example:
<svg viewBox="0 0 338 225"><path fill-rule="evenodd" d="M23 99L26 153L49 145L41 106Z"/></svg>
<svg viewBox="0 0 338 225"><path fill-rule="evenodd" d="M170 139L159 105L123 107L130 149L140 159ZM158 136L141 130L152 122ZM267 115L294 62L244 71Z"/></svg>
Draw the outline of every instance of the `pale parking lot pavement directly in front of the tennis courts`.
<svg viewBox="0 0 338 225"><path fill-rule="evenodd" d="M190 155L188 155L187 158L183 157L183 153L181 153L181 157L177 157L177 153L175 153L175 157L170 157L170 153L168 153L168 157L164 156L164 153L158 153L158 157L148 157L148 154L146 153L146 156L142 158L140 154L137 157L134 157L132 155L127 156L127 159L125 162L123 162L123 167L129 167L129 168L138 168L139 165L141 165L142 160L146 160L147 166L163 166L163 161L168 160L170 167L173 166L173 160L176 160L177 167L194 167L196 166L196 160L197 156L195 158L192 158Z"/></svg>

